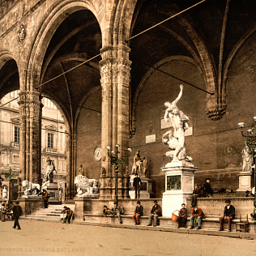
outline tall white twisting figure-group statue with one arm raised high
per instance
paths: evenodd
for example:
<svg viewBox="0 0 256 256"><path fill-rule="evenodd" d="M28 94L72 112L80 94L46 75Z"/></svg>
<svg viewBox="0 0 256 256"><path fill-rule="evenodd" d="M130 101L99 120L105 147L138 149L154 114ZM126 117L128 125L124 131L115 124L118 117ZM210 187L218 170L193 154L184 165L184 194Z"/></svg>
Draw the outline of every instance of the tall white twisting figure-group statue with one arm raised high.
<svg viewBox="0 0 256 256"><path fill-rule="evenodd" d="M190 157L186 156L185 147L185 130L189 128L188 122L189 117L186 116L181 110L177 108L177 102L181 99L183 85L180 85L181 92L177 96L176 100L172 103L165 102L164 106L167 107L164 113L165 122L171 122L173 126L173 132L169 130L163 135L163 143L168 144L170 149L174 151L169 151L166 156L169 156L172 162L177 162L179 160L191 160ZM169 134L169 139L164 138L165 135Z"/></svg>

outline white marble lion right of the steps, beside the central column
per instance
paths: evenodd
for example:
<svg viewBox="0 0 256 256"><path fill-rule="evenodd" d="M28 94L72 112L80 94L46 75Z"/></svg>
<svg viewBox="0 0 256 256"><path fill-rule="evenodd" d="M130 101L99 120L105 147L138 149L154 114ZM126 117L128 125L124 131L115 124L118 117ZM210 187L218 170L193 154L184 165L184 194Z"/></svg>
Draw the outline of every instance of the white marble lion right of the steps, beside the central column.
<svg viewBox="0 0 256 256"><path fill-rule="evenodd" d="M78 175L75 177L75 185L78 186L77 197L96 197L99 195L99 184L95 179Z"/></svg>

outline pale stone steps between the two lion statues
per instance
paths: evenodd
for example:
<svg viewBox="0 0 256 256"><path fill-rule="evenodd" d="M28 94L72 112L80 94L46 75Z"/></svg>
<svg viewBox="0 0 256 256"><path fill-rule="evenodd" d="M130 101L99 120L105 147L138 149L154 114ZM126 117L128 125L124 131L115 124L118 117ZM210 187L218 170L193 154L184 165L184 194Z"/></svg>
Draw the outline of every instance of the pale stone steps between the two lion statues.
<svg viewBox="0 0 256 256"><path fill-rule="evenodd" d="M75 204L65 204L66 207L70 207L72 211L75 211ZM42 220L59 222L62 218L61 211L64 205L52 205L49 204L48 208L41 208L38 211L33 212L31 215L22 215L20 219L23 220Z"/></svg>

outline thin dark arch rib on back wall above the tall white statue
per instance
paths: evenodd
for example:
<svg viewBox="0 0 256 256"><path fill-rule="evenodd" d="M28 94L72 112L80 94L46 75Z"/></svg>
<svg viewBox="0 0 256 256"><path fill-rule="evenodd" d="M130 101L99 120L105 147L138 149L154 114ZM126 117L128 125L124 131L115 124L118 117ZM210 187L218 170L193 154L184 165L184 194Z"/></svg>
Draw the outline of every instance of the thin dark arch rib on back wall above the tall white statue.
<svg viewBox="0 0 256 256"><path fill-rule="evenodd" d="M160 69L160 67L164 66L166 63L172 62L172 61L177 61L177 60L190 62L191 64L193 64L194 66L196 66L198 68L198 71L200 73L202 73L201 66L198 65L198 62L195 62L194 59L192 59L192 58L184 57L184 56L172 56L169 58L164 58L160 62L157 62L154 67L157 69ZM135 126L136 108L137 108L137 105L139 102L140 92L142 91L144 84L147 82L147 79L149 79L151 77L151 75L153 75L154 72L159 72L159 71L154 68L151 68L150 70L147 71L146 75L144 75L143 79L140 81L139 86L137 87L137 90L134 94L134 100L133 100L133 105L132 105L132 117L131 117L132 119L131 119L130 135L133 135L136 130L136 126Z"/></svg>

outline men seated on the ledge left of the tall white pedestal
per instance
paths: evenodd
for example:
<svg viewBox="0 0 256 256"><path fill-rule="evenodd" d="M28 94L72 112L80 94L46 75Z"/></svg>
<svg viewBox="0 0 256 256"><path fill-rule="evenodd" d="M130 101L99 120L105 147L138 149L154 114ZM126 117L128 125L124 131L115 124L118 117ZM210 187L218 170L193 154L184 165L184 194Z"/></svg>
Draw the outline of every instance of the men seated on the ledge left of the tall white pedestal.
<svg viewBox="0 0 256 256"><path fill-rule="evenodd" d="M114 207L109 210L109 208L105 205L103 207L103 214L104 215L117 215L118 221L122 224L122 217L121 215L124 213L123 208L118 206L116 202L114 202ZM148 224L147 226L151 226L151 221L153 220L153 226L156 227L157 224L157 217L162 215L162 209L157 201L154 201L154 206L151 208L150 215L148 217ZM140 224L140 217L143 216L143 206L140 204L140 201L137 201L137 205L134 210L134 215L132 218L134 220L135 225Z"/></svg>

